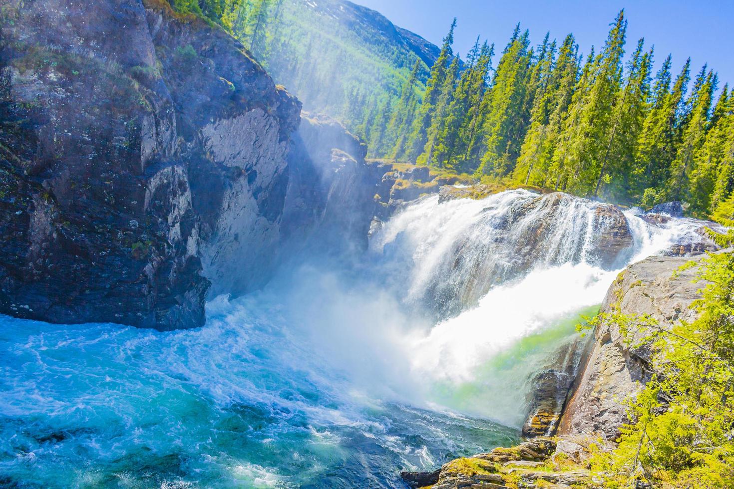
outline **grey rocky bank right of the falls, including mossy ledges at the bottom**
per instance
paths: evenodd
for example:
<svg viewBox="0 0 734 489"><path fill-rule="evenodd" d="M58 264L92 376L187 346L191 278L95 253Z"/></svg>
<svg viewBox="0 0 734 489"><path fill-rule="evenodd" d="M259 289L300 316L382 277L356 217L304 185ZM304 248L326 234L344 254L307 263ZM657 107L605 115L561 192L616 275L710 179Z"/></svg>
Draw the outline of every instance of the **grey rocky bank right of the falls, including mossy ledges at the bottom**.
<svg viewBox="0 0 734 489"><path fill-rule="evenodd" d="M609 288L601 312L649 314L662 326L693 320L695 312L689 306L702 284L691 282L697 273L695 267L679 271L690 260L649 257L631 265ZM558 403L562 404L571 387L558 436L541 436L509 449L458 458L432 472L403 472L407 485L435 489L597 487L587 470L589 448L599 444L599 436L612 442L619 435L619 427L627 421L625 400L650 378L650 351L634 339L632 344L638 346L629 346L615 325L597 328L585 343L575 383L564 369L574 363L568 359L584 348L584 342L559 351L559 364L534 379L537 398L531 403L523 435L542 435L558 424Z"/></svg>

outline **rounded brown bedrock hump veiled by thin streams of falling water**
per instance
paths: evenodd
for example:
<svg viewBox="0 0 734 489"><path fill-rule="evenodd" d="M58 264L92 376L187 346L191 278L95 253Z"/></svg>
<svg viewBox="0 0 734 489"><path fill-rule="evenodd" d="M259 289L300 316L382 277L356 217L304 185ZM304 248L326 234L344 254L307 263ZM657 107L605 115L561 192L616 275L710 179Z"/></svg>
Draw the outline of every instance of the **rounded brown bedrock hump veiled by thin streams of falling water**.
<svg viewBox="0 0 734 489"><path fill-rule="evenodd" d="M451 199L440 205L451 205ZM448 317L533 268L588 262L614 270L632 251L627 218L614 205L561 192L518 195L487 204L454 240L423 302Z"/></svg>

